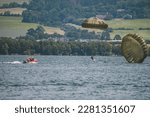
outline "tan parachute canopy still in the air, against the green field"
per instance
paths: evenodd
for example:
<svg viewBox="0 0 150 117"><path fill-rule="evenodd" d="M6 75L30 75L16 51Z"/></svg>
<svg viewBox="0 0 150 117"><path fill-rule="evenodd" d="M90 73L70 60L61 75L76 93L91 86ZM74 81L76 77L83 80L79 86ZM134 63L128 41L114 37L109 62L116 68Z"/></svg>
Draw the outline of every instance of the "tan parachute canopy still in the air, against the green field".
<svg viewBox="0 0 150 117"><path fill-rule="evenodd" d="M84 27L84 28L106 29L106 28L108 28L108 25L106 23L104 23L103 20L101 20L97 17L92 17L92 18L84 20L84 22L82 23L82 27Z"/></svg>

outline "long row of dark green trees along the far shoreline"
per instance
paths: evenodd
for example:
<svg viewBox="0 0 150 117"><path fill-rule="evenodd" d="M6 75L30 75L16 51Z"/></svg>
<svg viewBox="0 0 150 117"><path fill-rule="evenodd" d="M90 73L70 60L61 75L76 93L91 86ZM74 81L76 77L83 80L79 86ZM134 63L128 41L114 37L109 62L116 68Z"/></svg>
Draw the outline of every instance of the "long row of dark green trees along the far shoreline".
<svg viewBox="0 0 150 117"><path fill-rule="evenodd" d="M120 45L107 42L36 41L0 38L0 54L19 55L121 55Z"/></svg>

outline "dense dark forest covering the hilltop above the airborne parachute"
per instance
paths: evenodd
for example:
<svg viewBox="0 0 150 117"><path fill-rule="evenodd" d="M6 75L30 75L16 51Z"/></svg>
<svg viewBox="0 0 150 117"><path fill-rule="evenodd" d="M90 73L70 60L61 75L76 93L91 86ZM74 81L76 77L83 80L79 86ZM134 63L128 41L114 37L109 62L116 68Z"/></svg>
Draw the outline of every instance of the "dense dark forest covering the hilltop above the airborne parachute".
<svg viewBox="0 0 150 117"><path fill-rule="evenodd" d="M81 18L150 18L149 0L32 0L23 12L23 22L48 26L80 24Z"/></svg>

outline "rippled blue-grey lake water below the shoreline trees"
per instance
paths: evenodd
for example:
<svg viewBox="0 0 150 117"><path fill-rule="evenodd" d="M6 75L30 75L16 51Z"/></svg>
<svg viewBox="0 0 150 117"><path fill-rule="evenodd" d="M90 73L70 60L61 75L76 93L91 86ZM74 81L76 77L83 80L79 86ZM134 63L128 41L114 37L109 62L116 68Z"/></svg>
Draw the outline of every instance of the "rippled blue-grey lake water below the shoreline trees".
<svg viewBox="0 0 150 117"><path fill-rule="evenodd" d="M150 57L129 64L123 57L0 56L0 99L150 99ZM13 61L18 61L12 64Z"/></svg>

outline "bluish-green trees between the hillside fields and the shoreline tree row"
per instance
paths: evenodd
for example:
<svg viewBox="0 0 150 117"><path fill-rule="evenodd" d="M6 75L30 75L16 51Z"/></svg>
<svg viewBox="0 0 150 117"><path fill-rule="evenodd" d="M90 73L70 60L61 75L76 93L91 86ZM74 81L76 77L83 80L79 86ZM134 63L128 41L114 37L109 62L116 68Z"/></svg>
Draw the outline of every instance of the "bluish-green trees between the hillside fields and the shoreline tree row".
<svg viewBox="0 0 150 117"><path fill-rule="evenodd" d="M92 40L92 39L98 39L98 40L110 40L110 31L104 30L103 32L95 33L94 31L89 32L88 30L81 30L81 29L76 29L73 26L65 25L61 28L62 30L65 31L64 35L60 35L57 33L54 34L48 34L46 33L45 29L42 26L37 26L36 29L30 28L27 30L26 36L24 37L17 37L19 38L24 38L24 39L34 39L34 40L43 40L43 39L54 39L54 38L64 38L67 40ZM117 37L120 35L116 35ZM116 37L115 36L115 37ZM114 38L115 40L121 40L121 37L119 38Z"/></svg>

